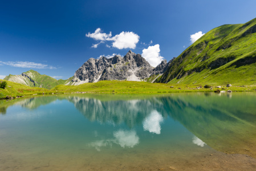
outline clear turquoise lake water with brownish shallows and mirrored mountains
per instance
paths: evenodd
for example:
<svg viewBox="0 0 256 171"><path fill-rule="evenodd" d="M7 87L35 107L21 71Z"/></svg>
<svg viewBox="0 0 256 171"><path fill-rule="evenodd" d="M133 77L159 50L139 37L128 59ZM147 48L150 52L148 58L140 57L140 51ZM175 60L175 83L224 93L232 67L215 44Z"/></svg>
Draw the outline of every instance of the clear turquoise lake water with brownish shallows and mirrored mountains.
<svg viewBox="0 0 256 171"><path fill-rule="evenodd" d="M256 93L42 96L0 111L0 170L138 170L218 152L256 157Z"/></svg>

